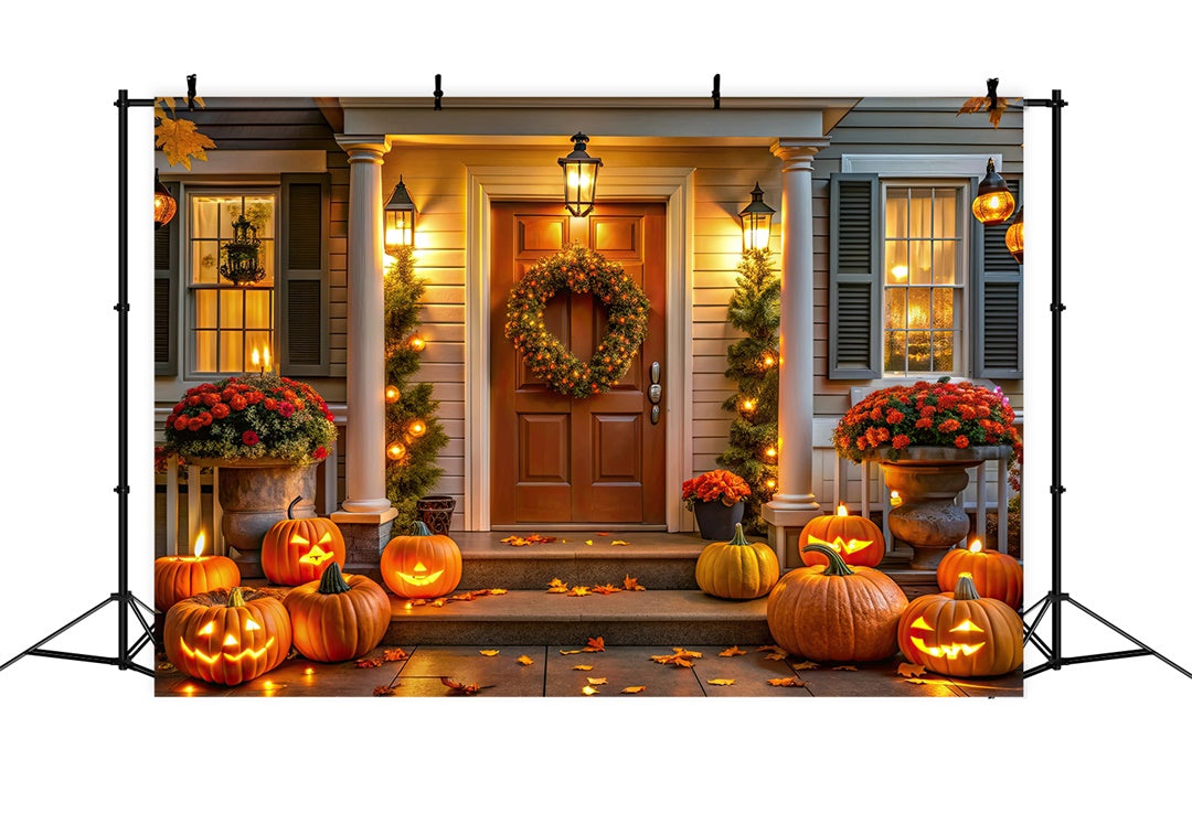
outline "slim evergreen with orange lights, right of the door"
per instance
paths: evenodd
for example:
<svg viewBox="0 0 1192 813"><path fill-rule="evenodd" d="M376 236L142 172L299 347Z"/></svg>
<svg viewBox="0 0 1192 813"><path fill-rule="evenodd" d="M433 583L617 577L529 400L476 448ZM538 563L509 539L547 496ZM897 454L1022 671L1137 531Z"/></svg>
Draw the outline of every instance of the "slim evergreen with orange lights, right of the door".
<svg viewBox="0 0 1192 813"><path fill-rule="evenodd" d="M737 418L728 432L728 448L716 464L749 483L743 527L766 533L762 505L775 494L778 446L778 322L781 280L770 249L750 249L737 266L737 290L728 300L728 322L745 334L728 348L725 376L737 383L737 395L724 409Z"/></svg>

